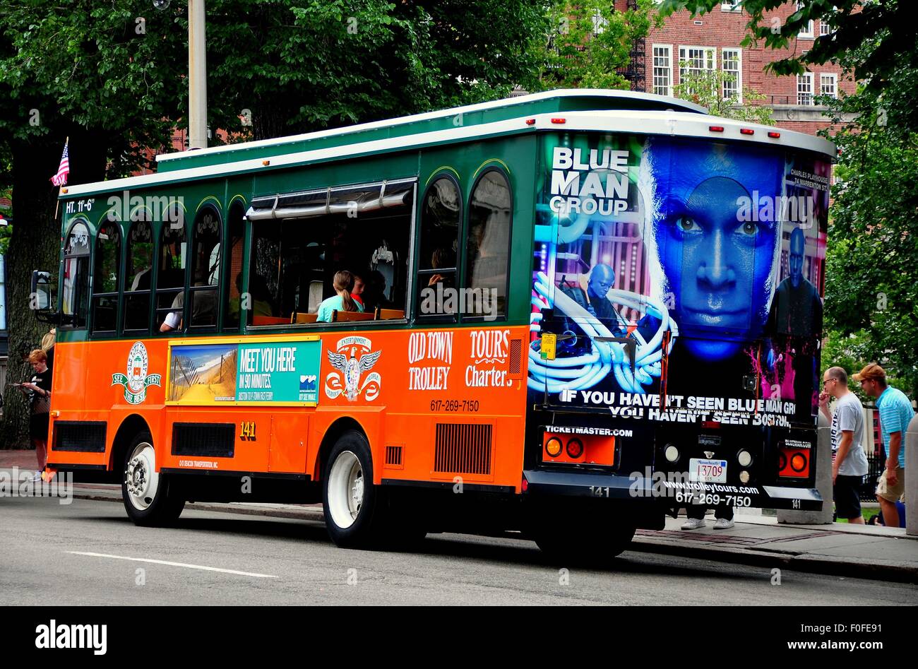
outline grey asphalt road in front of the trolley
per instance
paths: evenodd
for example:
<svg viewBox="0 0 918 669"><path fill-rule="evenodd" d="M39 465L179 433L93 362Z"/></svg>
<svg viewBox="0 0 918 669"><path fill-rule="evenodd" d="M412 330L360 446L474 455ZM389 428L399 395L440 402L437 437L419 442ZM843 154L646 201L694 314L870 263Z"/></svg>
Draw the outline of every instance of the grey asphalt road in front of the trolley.
<svg viewBox="0 0 918 669"><path fill-rule="evenodd" d="M526 540L430 535L341 550L318 523L185 511L135 527L119 504L0 499L6 605L915 605L918 586L625 552L560 569Z"/></svg>

